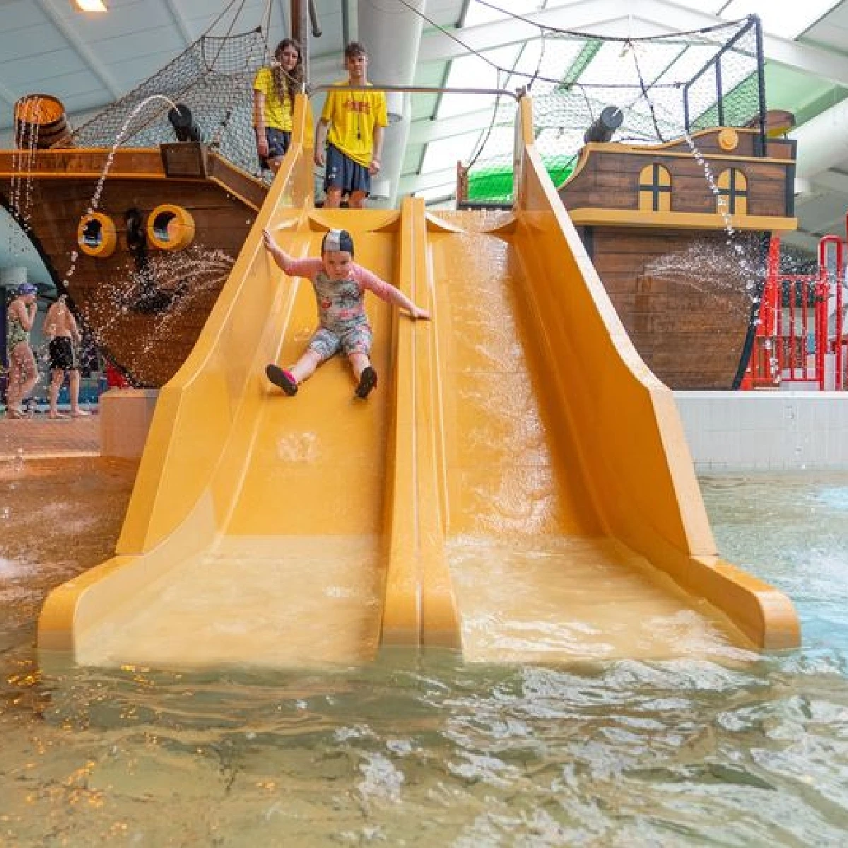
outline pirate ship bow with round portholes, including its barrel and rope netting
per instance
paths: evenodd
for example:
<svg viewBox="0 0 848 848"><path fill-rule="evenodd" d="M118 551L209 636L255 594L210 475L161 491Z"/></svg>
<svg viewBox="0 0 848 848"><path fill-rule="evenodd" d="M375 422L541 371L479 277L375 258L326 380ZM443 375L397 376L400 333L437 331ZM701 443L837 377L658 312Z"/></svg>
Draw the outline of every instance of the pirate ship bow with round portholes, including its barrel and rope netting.
<svg viewBox="0 0 848 848"><path fill-rule="evenodd" d="M0 203L136 385L186 359L265 200L251 110L267 60L261 28L202 36L75 131L55 98L15 105Z"/></svg>

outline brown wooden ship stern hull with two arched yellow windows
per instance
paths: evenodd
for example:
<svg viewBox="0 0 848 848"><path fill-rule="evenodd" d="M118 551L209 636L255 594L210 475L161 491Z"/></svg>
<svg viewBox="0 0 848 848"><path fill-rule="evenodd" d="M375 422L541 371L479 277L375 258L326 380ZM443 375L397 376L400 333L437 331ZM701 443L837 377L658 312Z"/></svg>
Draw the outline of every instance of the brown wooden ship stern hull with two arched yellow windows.
<svg viewBox="0 0 848 848"><path fill-rule="evenodd" d="M795 142L716 128L587 144L559 188L633 344L675 389L738 388L769 238L793 230Z"/></svg>

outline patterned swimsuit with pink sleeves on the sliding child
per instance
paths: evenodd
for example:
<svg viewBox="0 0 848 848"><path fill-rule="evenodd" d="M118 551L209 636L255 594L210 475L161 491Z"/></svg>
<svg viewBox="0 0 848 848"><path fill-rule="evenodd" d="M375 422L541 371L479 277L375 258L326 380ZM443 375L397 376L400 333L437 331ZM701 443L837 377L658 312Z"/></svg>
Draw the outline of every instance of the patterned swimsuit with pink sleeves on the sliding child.
<svg viewBox="0 0 848 848"><path fill-rule="evenodd" d="M309 349L322 362L339 351L345 356L371 354L371 325L365 315L366 290L388 303L406 305L406 298L395 287L355 263L347 280L331 280L326 276L321 259L294 259L286 273L309 278L315 289L321 326L310 339Z"/></svg>

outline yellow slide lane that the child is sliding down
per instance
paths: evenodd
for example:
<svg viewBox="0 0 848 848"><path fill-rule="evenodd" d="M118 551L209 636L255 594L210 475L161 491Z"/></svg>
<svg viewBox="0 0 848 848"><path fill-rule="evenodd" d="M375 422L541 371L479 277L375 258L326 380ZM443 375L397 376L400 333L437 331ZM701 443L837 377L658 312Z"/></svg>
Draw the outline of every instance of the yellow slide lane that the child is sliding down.
<svg viewBox="0 0 848 848"><path fill-rule="evenodd" d="M343 226L357 258L394 279L397 232L363 229L372 221L322 214L301 243L307 254L318 254L324 227ZM280 240L286 242L285 231ZM279 278L274 284L294 289L291 309L269 331L283 339L278 361L290 363L315 329L315 297L308 281L290 283L270 265L269 273ZM391 310L377 298L368 299L368 309L374 364L386 377ZM261 375L264 365L258 359L251 371ZM384 580L388 393L376 391L363 403L354 399L354 386L347 361L338 357L295 398L259 386L265 397L256 415L231 437L249 447L220 533L124 604L120 620L93 628L82 661L173 668L373 659Z"/></svg>

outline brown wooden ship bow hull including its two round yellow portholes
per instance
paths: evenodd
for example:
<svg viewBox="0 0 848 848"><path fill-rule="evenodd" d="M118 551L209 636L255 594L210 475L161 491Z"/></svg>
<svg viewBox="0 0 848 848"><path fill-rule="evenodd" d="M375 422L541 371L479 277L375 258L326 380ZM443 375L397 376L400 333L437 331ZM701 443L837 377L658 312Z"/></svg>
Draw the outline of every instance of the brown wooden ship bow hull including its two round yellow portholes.
<svg viewBox="0 0 848 848"><path fill-rule="evenodd" d="M266 193L195 142L0 151L0 203L98 349L143 387L186 359Z"/></svg>

